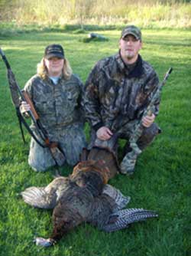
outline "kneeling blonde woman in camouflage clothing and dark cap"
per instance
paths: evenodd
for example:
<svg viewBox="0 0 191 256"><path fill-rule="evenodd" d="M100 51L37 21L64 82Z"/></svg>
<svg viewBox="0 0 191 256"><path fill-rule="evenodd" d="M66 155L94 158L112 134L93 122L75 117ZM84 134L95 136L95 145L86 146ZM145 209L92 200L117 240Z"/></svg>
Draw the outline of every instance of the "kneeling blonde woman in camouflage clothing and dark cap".
<svg viewBox="0 0 191 256"><path fill-rule="evenodd" d="M34 103L48 138L59 143L66 162L74 166L79 161L79 153L86 146L81 107L83 83L72 73L60 44L47 46L44 57L37 64L37 74L28 80L24 90ZM22 101L21 112L28 110L30 106ZM33 122L31 129L40 139ZM57 162L50 149L40 146L31 138L28 163L35 171L45 171Z"/></svg>

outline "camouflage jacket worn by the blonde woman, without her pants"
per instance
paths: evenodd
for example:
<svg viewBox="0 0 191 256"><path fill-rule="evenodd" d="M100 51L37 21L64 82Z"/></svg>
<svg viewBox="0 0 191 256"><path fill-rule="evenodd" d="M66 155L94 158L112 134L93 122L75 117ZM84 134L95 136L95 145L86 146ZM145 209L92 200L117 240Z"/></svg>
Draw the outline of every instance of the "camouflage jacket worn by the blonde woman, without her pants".
<svg viewBox="0 0 191 256"><path fill-rule="evenodd" d="M58 84L53 84L49 77L43 80L36 74L28 80L24 90L31 97L45 129L83 122L83 84L76 75L73 74L70 80L61 77Z"/></svg>

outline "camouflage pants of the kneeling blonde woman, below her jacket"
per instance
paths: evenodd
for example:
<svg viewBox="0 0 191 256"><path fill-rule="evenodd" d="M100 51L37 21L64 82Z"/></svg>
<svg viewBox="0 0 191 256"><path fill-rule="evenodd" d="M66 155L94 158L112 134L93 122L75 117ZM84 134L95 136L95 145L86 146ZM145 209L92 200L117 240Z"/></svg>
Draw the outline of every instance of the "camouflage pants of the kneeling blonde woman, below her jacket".
<svg viewBox="0 0 191 256"><path fill-rule="evenodd" d="M86 147L86 136L83 132L83 125L75 123L62 129L53 130L49 134L50 141L58 142L60 148L66 156L66 162L70 166L74 166L79 162L79 154L83 147ZM55 166L56 162L50 153L50 149L43 148L31 138L30 153L28 163L32 169L37 172L43 172L51 166Z"/></svg>

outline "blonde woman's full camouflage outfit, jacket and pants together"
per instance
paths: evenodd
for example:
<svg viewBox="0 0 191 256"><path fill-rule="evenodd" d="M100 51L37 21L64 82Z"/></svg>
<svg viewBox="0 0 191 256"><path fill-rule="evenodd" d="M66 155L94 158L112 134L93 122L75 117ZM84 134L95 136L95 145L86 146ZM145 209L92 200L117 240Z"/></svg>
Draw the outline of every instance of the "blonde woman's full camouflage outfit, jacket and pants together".
<svg viewBox="0 0 191 256"><path fill-rule="evenodd" d="M86 146L84 113L80 103L82 87L82 82L75 75L70 80L62 77L58 84L53 84L48 77L42 80L35 75L24 87L34 103L40 122L47 130L48 138L59 143L66 162L72 166L79 161L79 153ZM34 123L31 129L37 134ZM39 146L34 139L31 139L28 162L36 171L44 171L55 165L50 150Z"/></svg>

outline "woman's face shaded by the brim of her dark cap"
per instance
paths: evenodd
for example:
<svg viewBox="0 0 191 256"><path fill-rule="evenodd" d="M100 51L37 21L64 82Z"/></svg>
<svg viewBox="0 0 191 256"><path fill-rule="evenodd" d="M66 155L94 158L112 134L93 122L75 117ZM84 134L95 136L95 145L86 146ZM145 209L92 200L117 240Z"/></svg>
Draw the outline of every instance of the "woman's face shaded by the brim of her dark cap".
<svg viewBox="0 0 191 256"><path fill-rule="evenodd" d="M50 77L60 77L63 71L63 61L64 59L59 57L44 58L44 64Z"/></svg>

